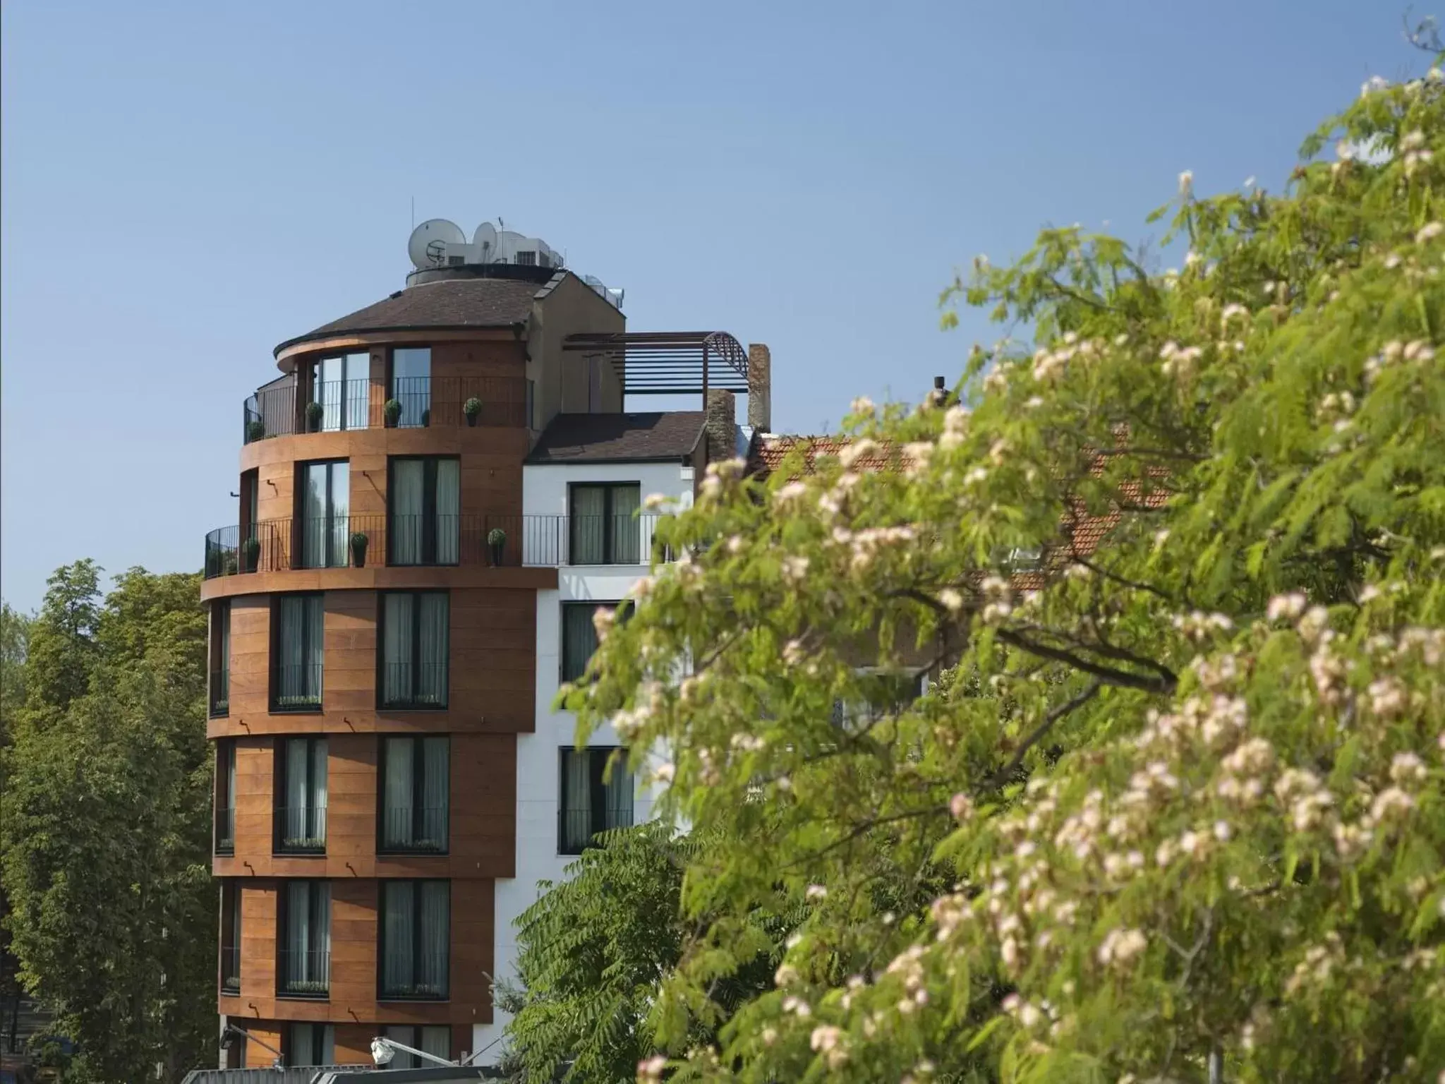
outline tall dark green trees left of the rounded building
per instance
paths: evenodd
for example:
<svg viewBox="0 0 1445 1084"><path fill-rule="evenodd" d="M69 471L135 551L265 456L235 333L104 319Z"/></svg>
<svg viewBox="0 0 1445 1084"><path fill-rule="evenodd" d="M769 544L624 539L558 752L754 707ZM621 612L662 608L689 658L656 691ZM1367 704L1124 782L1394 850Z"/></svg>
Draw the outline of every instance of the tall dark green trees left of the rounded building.
<svg viewBox="0 0 1445 1084"><path fill-rule="evenodd" d="M201 584L133 568L103 603L98 572L59 569L30 626L3 753L6 925L79 1048L66 1080L179 1080L215 1031Z"/></svg>

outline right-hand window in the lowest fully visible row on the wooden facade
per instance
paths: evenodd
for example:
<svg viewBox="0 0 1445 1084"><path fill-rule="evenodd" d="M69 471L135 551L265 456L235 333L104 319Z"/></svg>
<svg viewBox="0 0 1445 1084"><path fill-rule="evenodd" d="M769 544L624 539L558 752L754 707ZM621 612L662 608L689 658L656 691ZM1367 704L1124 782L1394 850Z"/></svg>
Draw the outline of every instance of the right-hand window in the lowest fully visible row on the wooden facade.
<svg viewBox="0 0 1445 1084"><path fill-rule="evenodd" d="M381 882L381 997L445 999L451 882Z"/></svg>

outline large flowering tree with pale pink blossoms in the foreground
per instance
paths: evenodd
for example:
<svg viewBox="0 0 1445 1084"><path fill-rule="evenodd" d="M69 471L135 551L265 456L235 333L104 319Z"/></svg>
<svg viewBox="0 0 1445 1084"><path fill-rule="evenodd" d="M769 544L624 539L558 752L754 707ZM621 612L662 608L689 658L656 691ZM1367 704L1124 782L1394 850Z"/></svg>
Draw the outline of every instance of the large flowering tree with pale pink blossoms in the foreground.
<svg viewBox="0 0 1445 1084"><path fill-rule="evenodd" d="M640 1077L1436 1080L1438 150L1439 71L1371 82L1283 195L1185 173L1181 270L1045 231L945 295L1038 350L709 468L568 694L718 838ZM941 678L840 723L864 649ZM686 1049L779 889L775 989Z"/></svg>

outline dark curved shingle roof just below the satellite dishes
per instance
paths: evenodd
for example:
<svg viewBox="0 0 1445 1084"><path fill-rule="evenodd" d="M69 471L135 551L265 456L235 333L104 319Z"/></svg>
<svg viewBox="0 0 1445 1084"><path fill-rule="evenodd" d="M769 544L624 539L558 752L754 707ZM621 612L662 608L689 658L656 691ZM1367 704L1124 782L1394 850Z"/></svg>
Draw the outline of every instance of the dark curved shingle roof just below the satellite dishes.
<svg viewBox="0 0 1445 1084"><path fill-rule="evenodd" d="M565 272L558 272L565 275ZM341 319L322 324L305 335L276 347L277 354L298 343L331 338L354 331L418 331L423 328L465 331L507 328L532 315L532 302L546 289L517 279L442 279L407 286L374 305Z"/></svg>

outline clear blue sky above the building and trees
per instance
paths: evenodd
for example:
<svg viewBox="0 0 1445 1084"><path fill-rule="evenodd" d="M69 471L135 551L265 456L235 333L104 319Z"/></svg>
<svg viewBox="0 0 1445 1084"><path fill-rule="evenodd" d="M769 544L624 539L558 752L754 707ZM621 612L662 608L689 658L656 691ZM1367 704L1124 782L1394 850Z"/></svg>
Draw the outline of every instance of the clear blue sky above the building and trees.
<svg viewBox="0 0 1445 1084"><path fill-rule="evenodd" d="M1192 169L1277 186L1381 0L64 3L0 12L0 591L194 569L272 347L402 286L418 221L540 236L633 330L773 350L773 428L957 376L936 299Z"/></svg>

